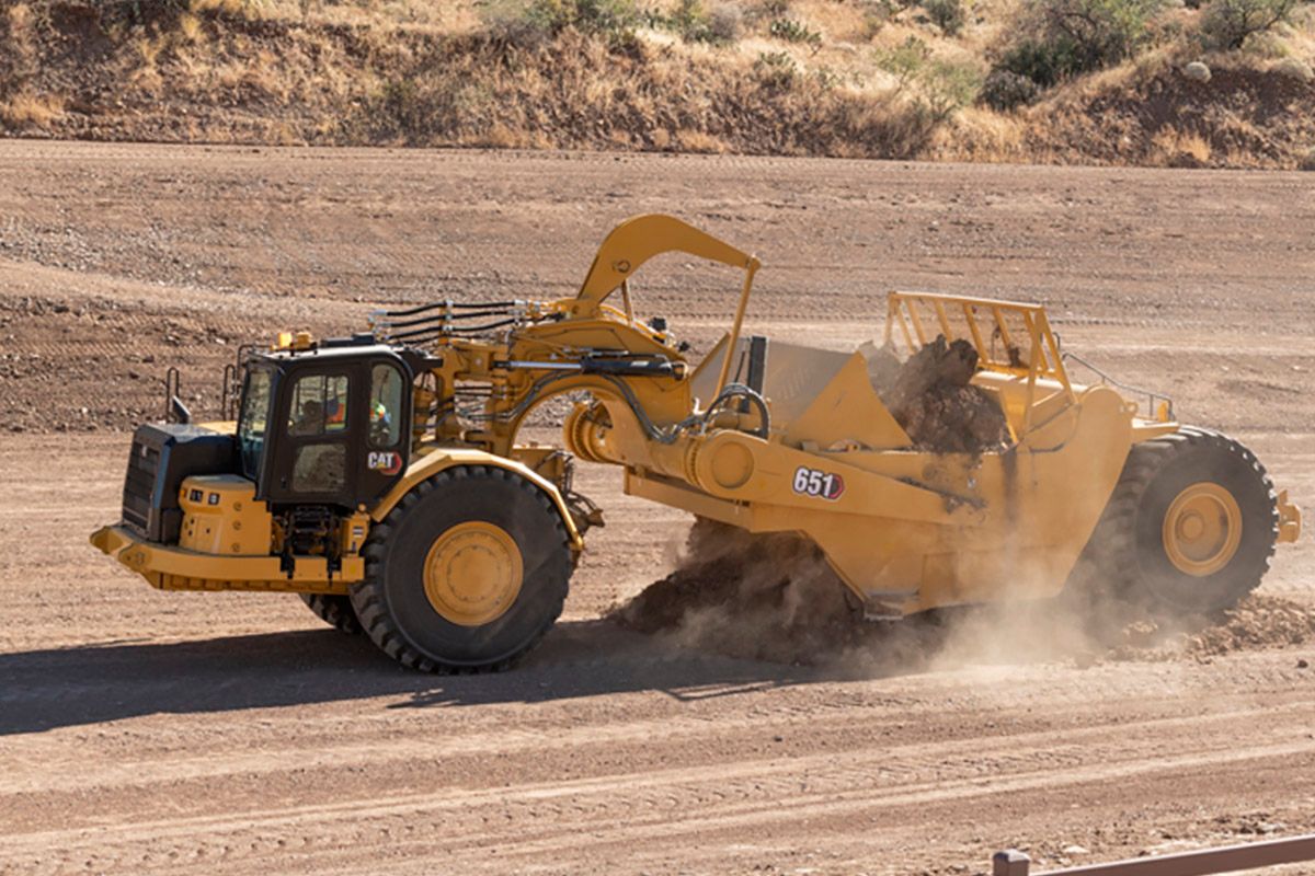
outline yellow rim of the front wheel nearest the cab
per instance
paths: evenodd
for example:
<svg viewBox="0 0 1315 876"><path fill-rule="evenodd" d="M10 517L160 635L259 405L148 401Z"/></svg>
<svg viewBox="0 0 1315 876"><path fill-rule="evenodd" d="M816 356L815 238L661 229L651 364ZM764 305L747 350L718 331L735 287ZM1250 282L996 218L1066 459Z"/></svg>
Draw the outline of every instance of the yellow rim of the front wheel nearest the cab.
<svg viewBox="0 0 1315 876"><path fill-rule="evenodd" d="M521 549L502 527L459 523L430 545L425 596L443 619L480 626L506 613L521 594Z"/></svg>

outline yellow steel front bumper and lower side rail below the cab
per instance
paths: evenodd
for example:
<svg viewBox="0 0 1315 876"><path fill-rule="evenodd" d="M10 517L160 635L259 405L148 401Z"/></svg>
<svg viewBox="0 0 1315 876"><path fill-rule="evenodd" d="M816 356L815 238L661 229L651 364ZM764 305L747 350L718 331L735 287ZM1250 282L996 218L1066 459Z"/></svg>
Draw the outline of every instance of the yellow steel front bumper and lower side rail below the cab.
<svg viewBox="0 0 1315 876"><path fill-rule="evenodd" d="M147 541L125 527L101 527L91 544L160 590L254 590L346 594L364 578L360 557L343 557L331 578L323 557L297 557L292 575L279 557L221 557Z"/></svg>

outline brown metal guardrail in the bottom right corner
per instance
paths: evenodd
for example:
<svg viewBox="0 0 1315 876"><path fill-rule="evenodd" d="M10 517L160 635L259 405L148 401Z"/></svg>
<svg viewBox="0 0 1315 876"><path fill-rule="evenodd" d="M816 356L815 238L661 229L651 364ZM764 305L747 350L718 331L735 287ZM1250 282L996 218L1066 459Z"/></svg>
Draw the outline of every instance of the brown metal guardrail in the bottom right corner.
<svg viewBox="0 0 1315 876"><path fill-rule="evenodd" d="M1210 876L1308 860L1315 860L1315 834L1155 858L1132 858L1069 869L1048 869L1044 873L1030 873L1031 859L1020 851L1009 848L995 852L992 858L992 876Z"/></svg>

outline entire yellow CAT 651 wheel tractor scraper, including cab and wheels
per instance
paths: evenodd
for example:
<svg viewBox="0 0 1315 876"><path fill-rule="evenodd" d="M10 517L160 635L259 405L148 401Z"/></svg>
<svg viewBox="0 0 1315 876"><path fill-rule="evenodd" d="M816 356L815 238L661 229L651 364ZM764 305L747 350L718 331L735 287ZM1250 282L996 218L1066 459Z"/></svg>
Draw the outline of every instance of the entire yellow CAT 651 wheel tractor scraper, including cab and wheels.
<svg viewBox="0 0 1315 876"><path fill-rule="evenodd" d="M697 366L633 311L631 277L669 251L744 272ZM1053 596L1080 559L1120 598L1208 612L1298 536L1244 447L1173 422L1166 401L1141 416L1103 378L1073 382L1040 306L892 293L885 348L838 353L742 338L757 269L644 215L611 231L573 298L284 335L242 357L235 422L138 428L122 520L92 544L155 587L296 592L406 666L463 671L510 665L562 612L601 523L571 489L572 454L621 466L631 495L806 536L884 616ZM874 389L878 355L947 345L999 422L993 448L926 447ZM563 393L586 398L569 453L518 444Z"/></svg>

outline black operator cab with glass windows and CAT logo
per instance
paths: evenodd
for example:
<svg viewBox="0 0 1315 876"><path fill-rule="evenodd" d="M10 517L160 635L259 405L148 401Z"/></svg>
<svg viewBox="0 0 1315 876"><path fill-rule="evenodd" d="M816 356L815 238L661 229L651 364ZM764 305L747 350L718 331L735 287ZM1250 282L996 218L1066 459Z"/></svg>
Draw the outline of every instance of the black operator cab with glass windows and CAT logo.
<svg viewBox="0 0 1315 876"><path fill-rule="evenodd" d="M329 340L250 356L238 471L271 507L373 504L406 469L413 380L381 344Z"/></svg>

